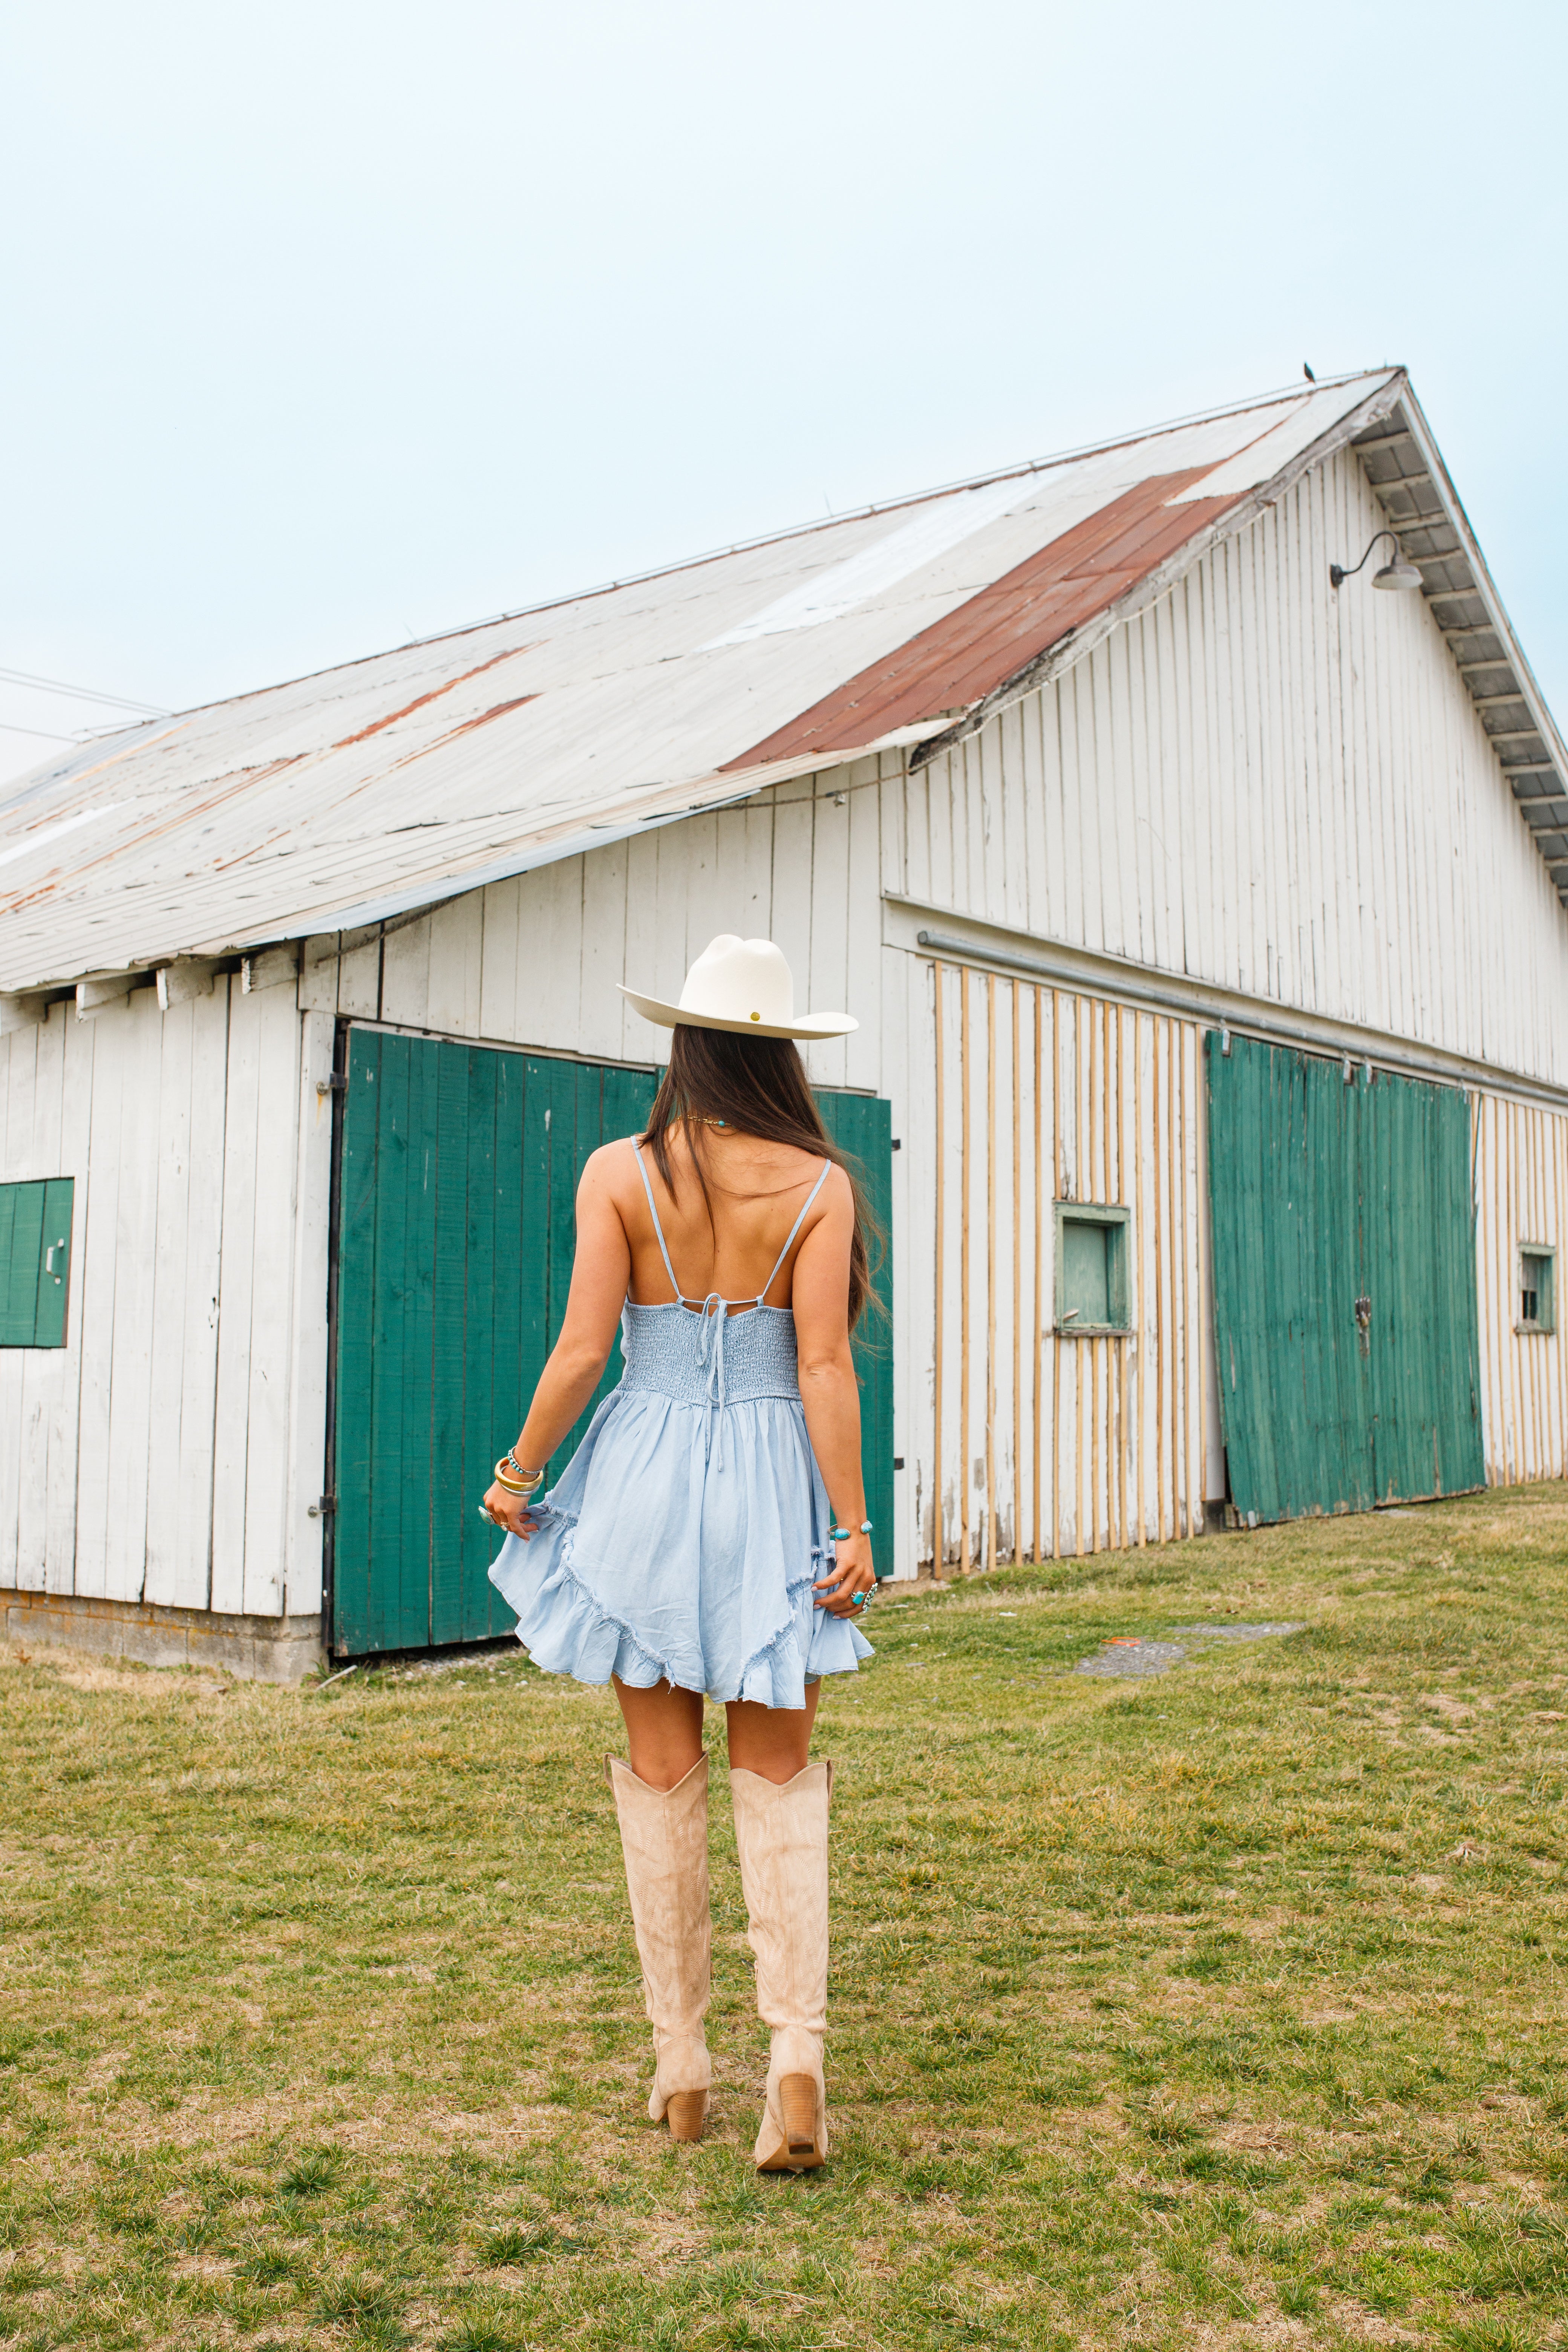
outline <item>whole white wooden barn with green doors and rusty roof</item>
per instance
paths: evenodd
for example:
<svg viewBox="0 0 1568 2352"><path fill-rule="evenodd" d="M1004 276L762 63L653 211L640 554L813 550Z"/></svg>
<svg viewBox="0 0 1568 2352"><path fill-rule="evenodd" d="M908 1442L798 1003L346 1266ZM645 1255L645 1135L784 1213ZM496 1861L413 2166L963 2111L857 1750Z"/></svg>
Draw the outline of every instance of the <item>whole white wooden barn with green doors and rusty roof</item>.
<svg viewBox="0 0 1568 2352"><path fill-rule="evenodd" d="M475 1472L651 1087L614 983L715 931L860 1016L809 1065L891 1232L884 1571L1561 1477L1566 788L1396 369L33 771L12 1630L259 1675L505 1630Z"/></svg>

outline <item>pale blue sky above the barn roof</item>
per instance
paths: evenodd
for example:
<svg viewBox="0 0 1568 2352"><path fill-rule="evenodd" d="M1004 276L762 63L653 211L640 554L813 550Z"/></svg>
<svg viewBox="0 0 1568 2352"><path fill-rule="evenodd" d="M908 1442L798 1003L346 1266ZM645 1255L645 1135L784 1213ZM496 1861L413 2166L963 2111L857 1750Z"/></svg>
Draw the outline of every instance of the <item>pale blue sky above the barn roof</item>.
<svg viewBox="0 0 1568 2352"><path fill-rule="evenodd" d="M202 701L1403 360L1568 717L1561 7L9 26L0 668Z"/></svg>

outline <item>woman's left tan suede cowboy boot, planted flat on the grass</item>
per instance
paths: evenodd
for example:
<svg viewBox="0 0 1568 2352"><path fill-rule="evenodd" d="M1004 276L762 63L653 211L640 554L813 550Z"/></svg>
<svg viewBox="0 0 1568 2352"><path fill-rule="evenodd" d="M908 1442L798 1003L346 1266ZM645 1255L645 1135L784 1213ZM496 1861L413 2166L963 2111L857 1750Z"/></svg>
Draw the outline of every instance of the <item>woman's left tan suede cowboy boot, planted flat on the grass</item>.
<svg viewBox="0 0 1568 2352"><path fill-rule="evenodd" d="M649 1788L604 1757L621 1818L642 1994L654 2027L649 2122L672 2140L701 2140L712 2063L703 2039L712 1962L708 1917L708 1757L672 1790Z"/></svg>

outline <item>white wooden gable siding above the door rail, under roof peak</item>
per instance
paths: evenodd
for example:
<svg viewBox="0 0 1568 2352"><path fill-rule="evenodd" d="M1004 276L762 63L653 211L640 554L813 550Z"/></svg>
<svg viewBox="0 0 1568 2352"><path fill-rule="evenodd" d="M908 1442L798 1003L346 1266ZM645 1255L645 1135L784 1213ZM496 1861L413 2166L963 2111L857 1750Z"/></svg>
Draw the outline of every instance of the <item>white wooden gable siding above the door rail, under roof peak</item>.
<svg viewBox="0 0 1568 2352"><path fill-rule="evenodd" d="M898 790L886 889L1568 1084L1568 920L1354 452Z"/></svg>

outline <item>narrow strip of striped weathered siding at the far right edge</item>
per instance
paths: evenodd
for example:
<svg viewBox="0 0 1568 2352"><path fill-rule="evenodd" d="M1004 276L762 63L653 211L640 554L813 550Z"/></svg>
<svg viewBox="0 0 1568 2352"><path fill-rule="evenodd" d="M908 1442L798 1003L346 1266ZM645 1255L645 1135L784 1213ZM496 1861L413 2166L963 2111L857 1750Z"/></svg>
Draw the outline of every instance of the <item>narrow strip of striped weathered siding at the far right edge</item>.
<svg viewBox="0 0 1568 2352"><path fill-rule="evenodd" d="M1568 1117L1472 1098L1486 1477L1568 1477ZM1519 1247L1556 1249L1556 1331L1519 1331Z"/></svg>

